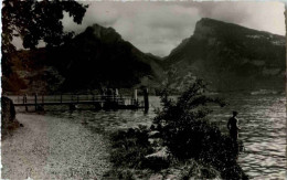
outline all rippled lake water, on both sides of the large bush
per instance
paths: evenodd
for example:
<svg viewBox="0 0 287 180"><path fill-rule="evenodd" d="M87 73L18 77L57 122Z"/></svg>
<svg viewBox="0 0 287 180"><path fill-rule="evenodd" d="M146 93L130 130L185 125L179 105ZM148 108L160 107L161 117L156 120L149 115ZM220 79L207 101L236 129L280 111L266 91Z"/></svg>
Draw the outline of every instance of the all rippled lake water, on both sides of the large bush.
<svg viewBox="0 0 287 180"><path fill-rule="evenodd" d="M240 139L245 151L238 161L245 172L254 179L285 179L286 171L286 99L284 95L226 95L230 104L223 108L213 107L210 115L223 133L227 133L226 121L232 110L238 112ZM139 124L150 125L156 116L155 109L160 107L159 97L150 97L150 110L110 110L95 112L66 110L67 107L50 107L46 116L88 121L87 128L98 133L107 133L119 128L135 127ZM79 107L81 108L81 107ZM46 108L45 108L46 109Z"/></svg>

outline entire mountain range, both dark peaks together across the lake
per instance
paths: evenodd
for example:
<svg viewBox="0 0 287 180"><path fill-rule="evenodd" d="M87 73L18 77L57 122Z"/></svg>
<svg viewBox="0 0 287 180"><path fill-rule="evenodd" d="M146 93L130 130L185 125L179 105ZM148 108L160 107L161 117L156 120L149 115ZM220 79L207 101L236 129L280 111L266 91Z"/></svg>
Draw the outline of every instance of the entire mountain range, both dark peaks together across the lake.
<svg viewBox="0 0 287 180"><path fill-rule="evenodd" d="M59 47L12 55L4 93L87 92L102 87L157 89L169 80L176 93L203 78L214 92L284 91L285 36L213 19L161 59L142 53L111 28L98 24Z"/></svg>

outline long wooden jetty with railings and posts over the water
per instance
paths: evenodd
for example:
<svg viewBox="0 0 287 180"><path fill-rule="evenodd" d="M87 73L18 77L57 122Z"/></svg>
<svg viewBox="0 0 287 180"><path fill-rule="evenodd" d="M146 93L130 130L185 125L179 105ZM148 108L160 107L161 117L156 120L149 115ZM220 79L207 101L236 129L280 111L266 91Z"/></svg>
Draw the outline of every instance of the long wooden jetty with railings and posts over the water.
<svg viewBox="0 0 287 180"><path fill-rule="evenodd" d="M144 102L139 102L137 89L132 97L114 95L94 95L94 94L57 94L57 95L18 95L9 96L14 106L28 107L34 106L35 110L43 110L44 106L67 105L71 110L76 109L77 105L94 105L95 109L139 109L148 110L148 89L144 89Z"/></svg>

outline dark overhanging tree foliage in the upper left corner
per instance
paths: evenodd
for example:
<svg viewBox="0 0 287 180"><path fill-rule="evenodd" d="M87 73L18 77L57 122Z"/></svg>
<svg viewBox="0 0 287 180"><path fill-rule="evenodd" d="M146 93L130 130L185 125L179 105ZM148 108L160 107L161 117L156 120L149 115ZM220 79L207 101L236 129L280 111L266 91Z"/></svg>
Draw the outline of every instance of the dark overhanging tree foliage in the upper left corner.
<svg viewBox="0 0 287 180"><path fill-rule="evenodd" d="M19 36L23 47L35 49L40 40L46 46L57 46L73 36L73 32L64 32L62 19L64 11L79 24L87 6L74 0L4 0L2 2L2 70L9 74L9 56L15 51L11 43Z"/></svg>

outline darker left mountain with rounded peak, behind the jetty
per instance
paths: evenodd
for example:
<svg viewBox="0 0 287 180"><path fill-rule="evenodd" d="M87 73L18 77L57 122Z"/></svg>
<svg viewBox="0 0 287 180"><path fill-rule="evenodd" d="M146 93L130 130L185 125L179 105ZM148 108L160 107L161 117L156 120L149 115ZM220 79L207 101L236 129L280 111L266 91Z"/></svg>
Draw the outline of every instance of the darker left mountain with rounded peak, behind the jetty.
<svg viewBox="0 0 287 180"><path fill-rule="evenodd" d="M153 86L161 60L140 52L111 28L98 24L60 47L20 51L3 92L78 92L102 87ZM14 86L17 81L19 86Z"/></svg>

